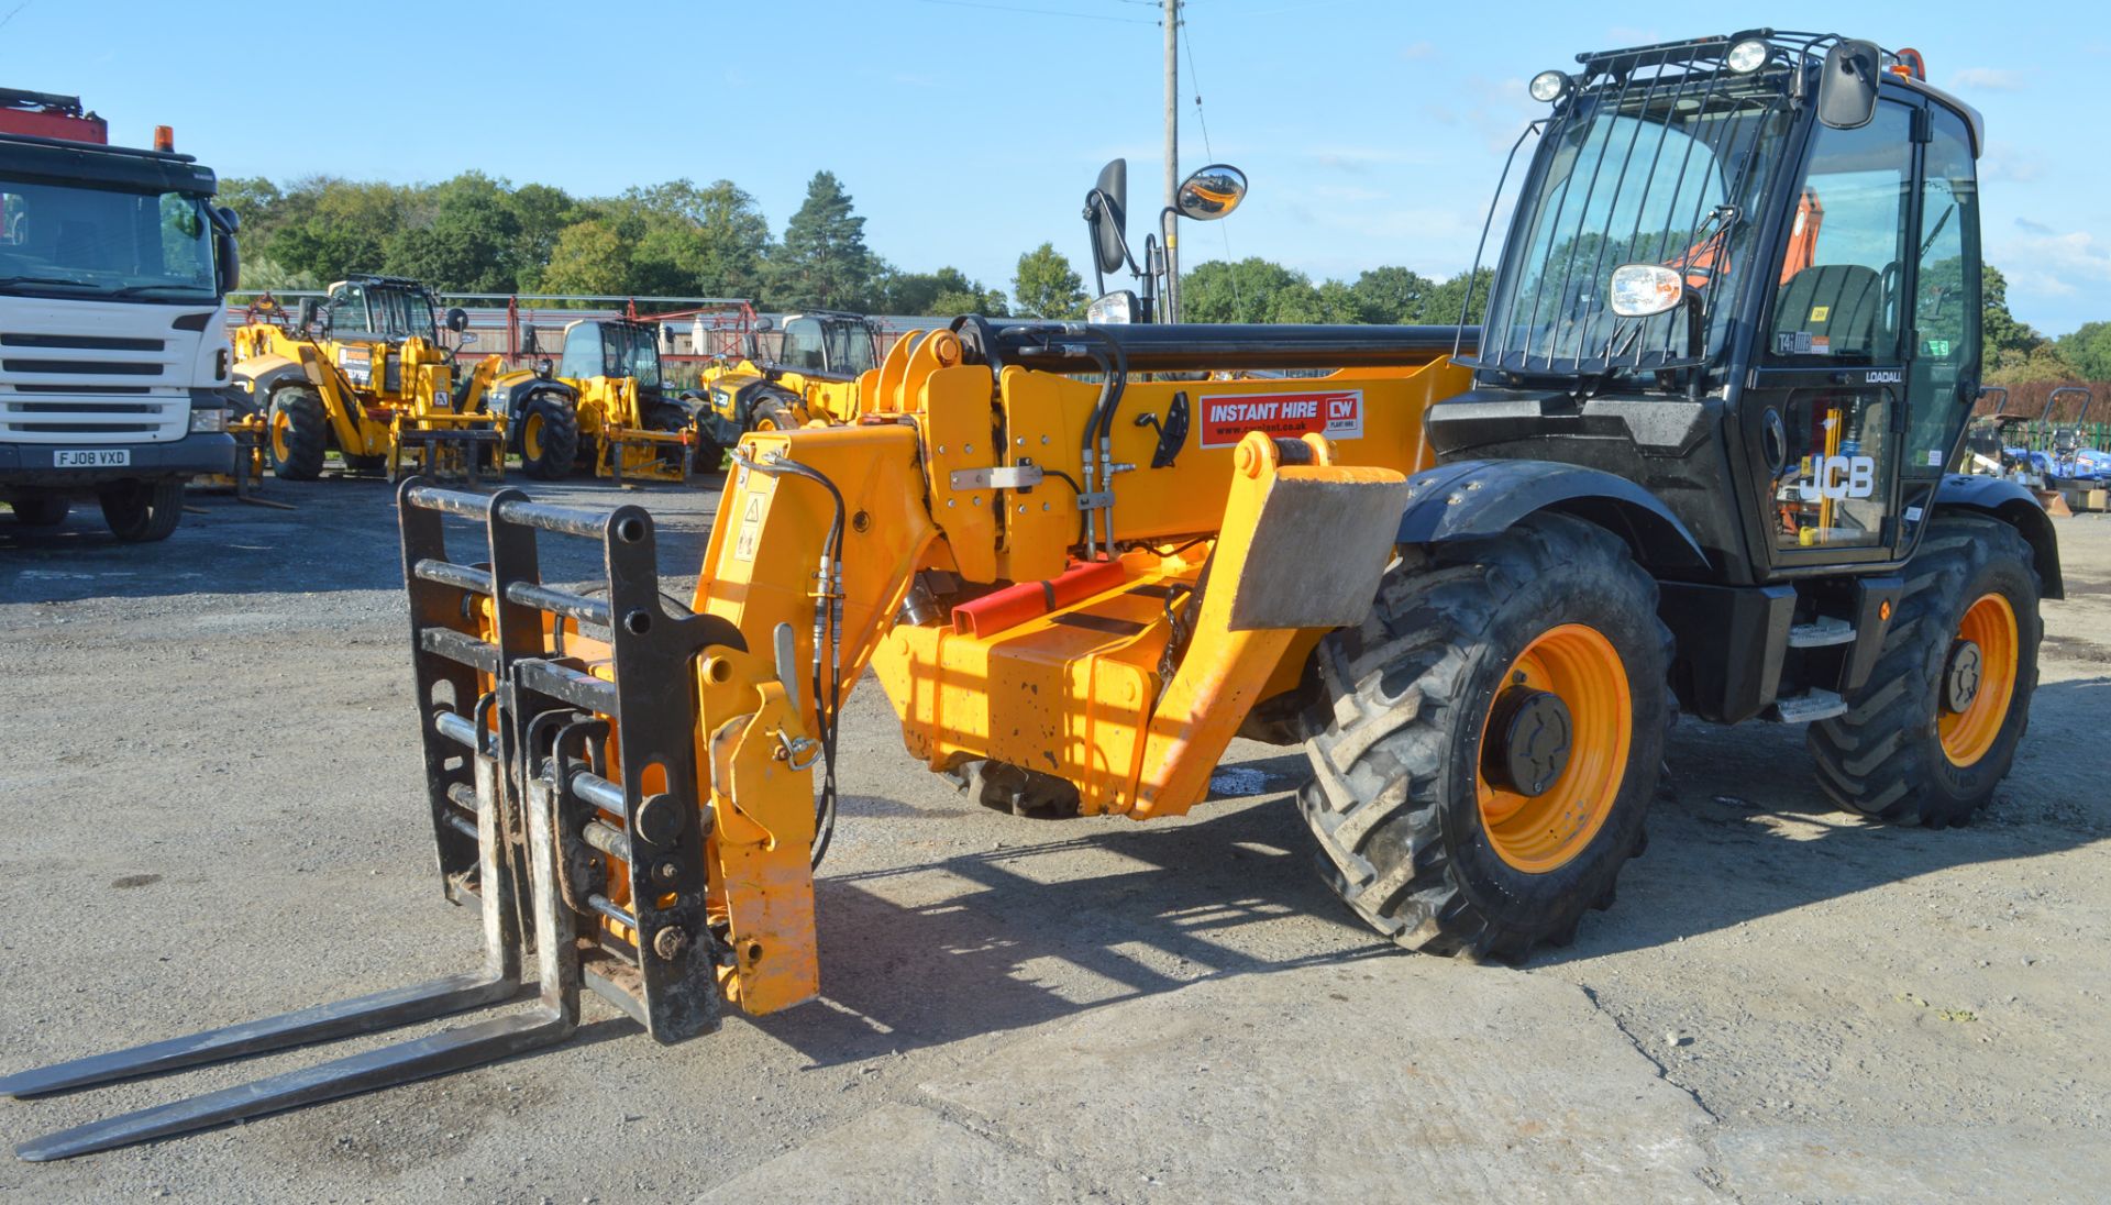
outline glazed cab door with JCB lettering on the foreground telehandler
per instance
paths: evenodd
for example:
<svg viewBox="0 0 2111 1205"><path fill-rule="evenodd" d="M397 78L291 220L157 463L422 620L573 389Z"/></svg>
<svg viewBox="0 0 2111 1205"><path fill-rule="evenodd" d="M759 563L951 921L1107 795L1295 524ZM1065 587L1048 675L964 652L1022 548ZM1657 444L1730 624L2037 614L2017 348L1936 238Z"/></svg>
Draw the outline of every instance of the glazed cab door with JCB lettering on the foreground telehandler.
<svg viewBox="0 0 2111 1205"><path fill-rule="evenodd" d="M1818 127L1739 405L1775 570L1891 559L1915 346L1917 103Z"/></svg>

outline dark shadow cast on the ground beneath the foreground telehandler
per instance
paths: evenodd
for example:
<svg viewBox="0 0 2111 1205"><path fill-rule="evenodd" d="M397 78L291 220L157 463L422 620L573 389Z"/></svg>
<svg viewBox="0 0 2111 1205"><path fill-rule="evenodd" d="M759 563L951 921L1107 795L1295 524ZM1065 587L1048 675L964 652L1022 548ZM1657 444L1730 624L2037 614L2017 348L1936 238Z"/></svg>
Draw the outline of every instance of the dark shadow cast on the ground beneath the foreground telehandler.
<svg viewBox="0 0 2111 1205"><path fill-rule="evenodd" d="M2107 705L2111 680L2058 682L2039 688L2033 715L2092 715ZM2071 747L2037 728L2024 755ZM1615 910L1590 914L1575 945L1541 950L1528 967L1666 945L2111 831L2103 804L2046 810L2005 793L1963 829L1868 823L1818 789L1801 728L1685 724L1670 764L1676 798L1655 806L1651 846L1621 878ZM1302 758L1239 768L1281 791L1302 777ZM1056 825L1018 821L1018 846L825 876L817 910L828 1007L758 1024L825 1066L1037 1026L1205 977L1419 958L1368 933L1334 899L1288 796L1197 817L1100 821L1081 836L1039 842ZM1064 863L1053 855L1068 855L1068 869L1045 880L1037 869ZM899 891L908 880L918 882ZM918 903L899 903L904 895ZM1269 924L1283 922L1305 924L1302 937L1273 941ZM1311 924L1324 933L1315 937Z"/></svg>

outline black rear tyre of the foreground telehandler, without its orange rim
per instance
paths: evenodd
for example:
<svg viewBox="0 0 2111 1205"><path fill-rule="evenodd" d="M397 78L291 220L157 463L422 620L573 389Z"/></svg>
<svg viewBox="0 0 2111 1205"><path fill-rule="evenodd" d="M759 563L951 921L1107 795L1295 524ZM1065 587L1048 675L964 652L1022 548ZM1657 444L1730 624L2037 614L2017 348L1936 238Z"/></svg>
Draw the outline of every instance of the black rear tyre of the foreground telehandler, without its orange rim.
<svg viewBox="0 0 2111 1205"><path fill-rule="evenodd" d="M2016 528L1984 515L1938 513L1906 563L1906 593L1883 650L1847 713L1811 724L1818 785L1839 806L1900 825L1972 821L2016 762L2037 690L2037 568ZM1959 766L1942 743L1944 673L1965 612L1999 595L2016 618L2008 709L1991 745Z"/></svg>

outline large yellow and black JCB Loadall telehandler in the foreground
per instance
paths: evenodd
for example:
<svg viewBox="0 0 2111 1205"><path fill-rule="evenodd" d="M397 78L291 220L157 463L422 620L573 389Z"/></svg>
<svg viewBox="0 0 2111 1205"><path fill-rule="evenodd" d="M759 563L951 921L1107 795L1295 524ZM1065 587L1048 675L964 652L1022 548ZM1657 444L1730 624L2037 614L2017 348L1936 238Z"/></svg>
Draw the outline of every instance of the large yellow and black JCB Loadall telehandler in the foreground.
<svg viewBox="0 0 2111 1205"><path fill-rule="evenodd" d="M1807 722L1845 808L1965 823L2060 597L2037 504L1944 471L1980 376L1978 118L1910 53L1765 30L1530 87L1549 110L1480 329L958 319L887 355L857 424L741 441L686 608L638 506L405 483L439 878L481 910L483 973L0 1087L509 1000L530 948L540 1002L19 1152L555 1043L583 983L663 1043L722 996L815 998L866 669L912 755L1022 810L1180 815L1235 732L1305 741L1334 888L1471 958L1613 901L1674 699ZM1828 217L1796 251L1807 194ZM1142 378L1241 369L1334 371ZM597 542L606 593L540 580L545 538Z"/></svg>

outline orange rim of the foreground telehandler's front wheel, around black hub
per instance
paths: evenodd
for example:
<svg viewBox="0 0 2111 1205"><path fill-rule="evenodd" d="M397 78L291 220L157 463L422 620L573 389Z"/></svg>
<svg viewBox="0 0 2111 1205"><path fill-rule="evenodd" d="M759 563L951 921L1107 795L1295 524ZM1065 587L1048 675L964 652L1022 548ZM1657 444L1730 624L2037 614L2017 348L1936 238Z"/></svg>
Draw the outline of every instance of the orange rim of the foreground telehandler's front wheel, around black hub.
<svg viewBox="0 0 2111 1205"><path fill-rule="evenodd" d="M1566 764L1539 793L1488 772L1490 718L1518 699L1514 692L1547 692L1566 709ZM1632 739L1634 696L1613 642L1598 629L1564 623L1524 646L1482 718L1482 762L1473 774L1480 825L1497 857L1526 874L1547 874L1583 853L1613 815Z"/></svg>

